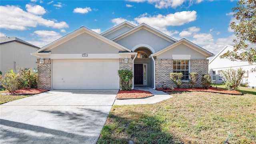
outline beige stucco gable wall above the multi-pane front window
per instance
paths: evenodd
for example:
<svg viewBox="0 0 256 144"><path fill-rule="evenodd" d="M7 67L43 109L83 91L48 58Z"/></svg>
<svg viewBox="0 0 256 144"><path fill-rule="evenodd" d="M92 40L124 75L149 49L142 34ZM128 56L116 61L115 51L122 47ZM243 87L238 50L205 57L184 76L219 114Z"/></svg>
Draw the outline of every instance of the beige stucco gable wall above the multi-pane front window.
<svg viewBox="0 0 256 144"><path fill-rule="evenodd" d="M180 44L176 46L175 48L172 48L160 55L157 56L157 59L173 59L172 55L191 55L190 59L206 59L206 56L203 54L197 52L196 50L193 50L192 48L186 46L185 44Z"/></svg>

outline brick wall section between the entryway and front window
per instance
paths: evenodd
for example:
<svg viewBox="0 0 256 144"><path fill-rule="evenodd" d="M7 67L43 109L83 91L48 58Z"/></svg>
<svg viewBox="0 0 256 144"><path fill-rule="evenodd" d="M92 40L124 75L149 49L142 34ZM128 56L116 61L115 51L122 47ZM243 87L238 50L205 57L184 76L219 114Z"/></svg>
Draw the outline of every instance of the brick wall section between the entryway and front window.
<svg viewBox="0 0 256 144"><path fill-rule="evenodd" d="M175 84L170 79L170 72L173 72L173 60L170 59L155 59L156 63L156 88L162 88L163 84L167 88Z"/></svg>

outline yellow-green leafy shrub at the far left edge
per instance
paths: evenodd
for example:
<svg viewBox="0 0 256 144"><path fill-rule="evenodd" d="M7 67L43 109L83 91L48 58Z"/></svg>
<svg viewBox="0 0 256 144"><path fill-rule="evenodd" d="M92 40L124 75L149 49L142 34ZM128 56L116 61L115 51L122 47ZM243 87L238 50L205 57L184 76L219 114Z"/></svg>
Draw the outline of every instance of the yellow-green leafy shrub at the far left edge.
<svg viewBox="0 0 256 144"><path fill-rule="evenodd" d="M18 89L20 74L15 74L13 70L10 70L4 77L0 76L0 78L3 87L9 92L14 92Z"/></svg>

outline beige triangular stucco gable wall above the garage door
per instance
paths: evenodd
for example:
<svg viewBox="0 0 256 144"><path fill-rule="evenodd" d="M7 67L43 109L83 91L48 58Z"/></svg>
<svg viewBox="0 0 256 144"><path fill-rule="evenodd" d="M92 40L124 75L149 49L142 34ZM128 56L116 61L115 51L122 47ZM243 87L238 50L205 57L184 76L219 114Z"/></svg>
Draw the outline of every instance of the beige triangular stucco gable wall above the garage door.
<svg viewBox="0 0 256 144"><path fill-rule="evenodd" d="M87 33L82 33L51 50L52 54L118 54L118 52L119 49Z"/></svg>

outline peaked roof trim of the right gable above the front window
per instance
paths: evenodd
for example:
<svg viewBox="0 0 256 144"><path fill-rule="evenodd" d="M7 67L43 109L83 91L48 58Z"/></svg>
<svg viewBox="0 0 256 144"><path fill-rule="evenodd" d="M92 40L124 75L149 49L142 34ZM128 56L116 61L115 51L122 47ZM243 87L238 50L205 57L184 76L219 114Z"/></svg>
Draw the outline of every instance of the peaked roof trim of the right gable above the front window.
<svg viewBox="0 0 256 144"><path fill-rule="evenodd" d="M182 38L181 40L179 40L178 42L175 42L165 48L163 48L162 50L159 50L157 52L155 52L153 55L154 56L158 56L172 48L175 48L176 46L178 46L179 44L188 44L190 45L189 47L196 50L197 52L200 52L201 54L204 54L207 58L208 57L211 57L211 56L214 56L214 54L212 54L211 52L209 52L208 50L205 50L204 48L201 48L200 46L194 44L193 42L190 42L189 40L185 39L185 38Z"/></svg>

